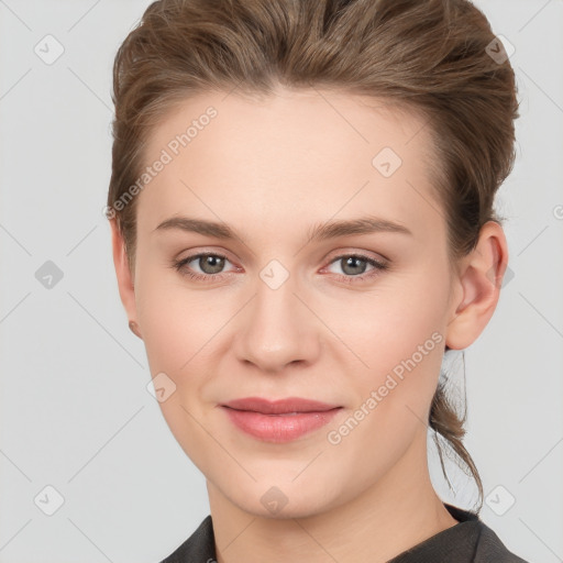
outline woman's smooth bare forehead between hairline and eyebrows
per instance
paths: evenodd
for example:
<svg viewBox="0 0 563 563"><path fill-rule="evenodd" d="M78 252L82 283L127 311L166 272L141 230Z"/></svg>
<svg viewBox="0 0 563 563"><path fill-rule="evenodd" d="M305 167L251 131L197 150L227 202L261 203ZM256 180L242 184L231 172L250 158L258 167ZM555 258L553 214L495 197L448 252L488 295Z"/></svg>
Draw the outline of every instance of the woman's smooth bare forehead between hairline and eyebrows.
<svg viewBox="0 0 563 563"><path fill-rule="evenodd" d="M440 216L424 125L385 100L312 88L198 95L152 131L144 165L166 164L140 194L140 230L185 212L274 234L367 211L423 231Z"/></svg>

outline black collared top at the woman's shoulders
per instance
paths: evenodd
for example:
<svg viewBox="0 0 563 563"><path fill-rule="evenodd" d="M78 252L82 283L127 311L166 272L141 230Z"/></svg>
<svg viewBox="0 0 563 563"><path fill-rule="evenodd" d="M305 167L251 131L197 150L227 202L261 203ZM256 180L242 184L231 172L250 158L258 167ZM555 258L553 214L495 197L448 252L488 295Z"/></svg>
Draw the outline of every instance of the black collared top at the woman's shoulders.
<svg viewBox="0 0 563 563"><path fill-rule="evenodd" d="M459 523L404 551L387 563L528 563L508 551L498 536L474 512L444 503ZM214 563L211 515L161 563Z"/></svg>

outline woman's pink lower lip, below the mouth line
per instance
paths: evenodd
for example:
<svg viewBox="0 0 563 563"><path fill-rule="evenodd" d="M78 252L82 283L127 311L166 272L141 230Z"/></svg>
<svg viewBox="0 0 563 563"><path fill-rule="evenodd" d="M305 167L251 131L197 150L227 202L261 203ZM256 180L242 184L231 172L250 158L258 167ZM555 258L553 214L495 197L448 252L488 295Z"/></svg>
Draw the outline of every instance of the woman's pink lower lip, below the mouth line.
<svg viewBox="0 0 563 563"><path fill-rule="evenodd" d="M318 412L298 415L263 415L252 410L235 410L222 407L231 421L247 434L264 442L290 442L301 435L318 430L341 410L335 408Z"/></svg>

